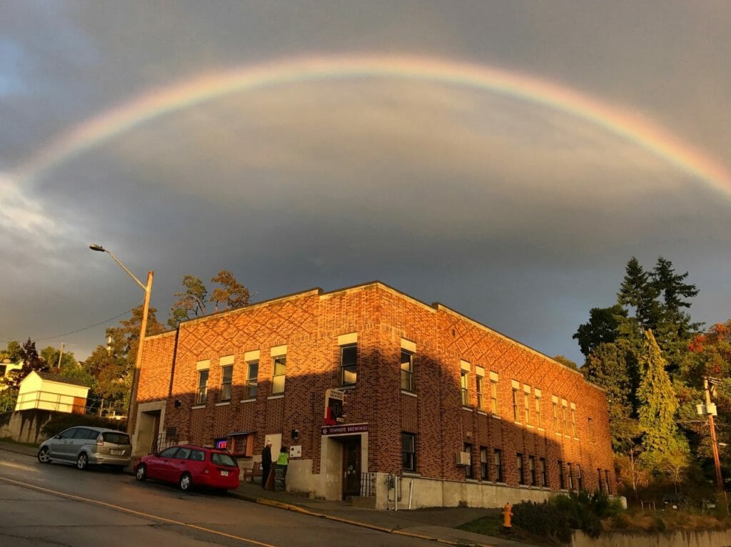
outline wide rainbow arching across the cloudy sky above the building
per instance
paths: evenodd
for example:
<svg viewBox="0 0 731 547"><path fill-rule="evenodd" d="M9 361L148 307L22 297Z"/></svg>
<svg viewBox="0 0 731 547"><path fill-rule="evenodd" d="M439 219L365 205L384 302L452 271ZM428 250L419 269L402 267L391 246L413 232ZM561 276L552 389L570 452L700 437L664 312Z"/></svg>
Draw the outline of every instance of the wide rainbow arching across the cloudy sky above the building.
<svg viewBox="0 0 731 547"><path fill-rule="evenodd" d="M53 167L86 153L158 116L229 93L314 80L356 77L407 79L460 85L502 93L588 121L628 139L700 179L731 191L731 174L669 131L637 114L600 102L570 88L503 69L419 56L332 56L291 58L216 72L145 93L89 118L60 134L26 159L12 174L18 183L37 180Z"/></svg>

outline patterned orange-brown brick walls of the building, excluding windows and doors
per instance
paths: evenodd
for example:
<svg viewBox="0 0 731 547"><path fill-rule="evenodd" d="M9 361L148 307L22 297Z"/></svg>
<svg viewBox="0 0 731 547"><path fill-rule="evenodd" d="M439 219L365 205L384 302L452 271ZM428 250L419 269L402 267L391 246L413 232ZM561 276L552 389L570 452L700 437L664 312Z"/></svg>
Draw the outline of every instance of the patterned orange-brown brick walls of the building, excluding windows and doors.
<svg viewBox="0 0 731 547"><path fill-rule="evenodd" d="M490 479L493 450L503 454L505 481L518 486L516 454L548 463L551 489L558 489L557 462L580 464L583 484L597 486L596 469L613 463L607 405L602 390L547 356L510 340L442 305L428 306L382 283L323 293L319 289L210 315L181 324L177 334L145 341L140 402L167 399L165 426L178 437L210 444L232 432L255 432L254 451L265 435L298 429L303 459L319 473L320 426L325 390L338 387L338 336L357 333L357 383L346 390L346 422L368 424L368 470L401 471L401 432L417 438L417 472L425 477L462 481L455 454L473 446L472 469L480 478L480 447L488 450ZM402 343L415 345L414 394L400 389ZM271 348L287 346L284 397L271 396ZM246 399L244 353L259 351L257 397ZM221 357L233 356L232 397L219 400ZM196 364L210 360L208 401L194 408ZM467 368L468 403L461 402L461 371ZM477 408L476 376L484 374L485 408ZM499 410L489 410L490 373L497 375ZM520 418L512 408L517 382ZM523 416L523 394L529 386L529 423ZM540 390L542 427L536 423L536 389ZM575 405L576 434L553 425L552 397ZM181 401L179 408L173 402ZM588 431L591 418L592 435ZM517 422L517 423L516 423Z"/></svg>

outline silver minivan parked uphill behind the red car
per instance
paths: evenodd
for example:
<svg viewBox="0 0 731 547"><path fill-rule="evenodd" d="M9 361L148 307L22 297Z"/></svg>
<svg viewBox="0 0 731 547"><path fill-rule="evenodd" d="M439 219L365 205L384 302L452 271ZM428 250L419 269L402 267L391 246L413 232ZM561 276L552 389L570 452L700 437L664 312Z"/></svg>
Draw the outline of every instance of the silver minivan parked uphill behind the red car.
<svg viewBox="0 0 731 547"><path fill-rule="evenodd" d="M109 465L119 470L129 465L132 444L124 431L104 427L76 426L45 440L38 450L44 464L64 462L81 470L89 465Z"/></svg>

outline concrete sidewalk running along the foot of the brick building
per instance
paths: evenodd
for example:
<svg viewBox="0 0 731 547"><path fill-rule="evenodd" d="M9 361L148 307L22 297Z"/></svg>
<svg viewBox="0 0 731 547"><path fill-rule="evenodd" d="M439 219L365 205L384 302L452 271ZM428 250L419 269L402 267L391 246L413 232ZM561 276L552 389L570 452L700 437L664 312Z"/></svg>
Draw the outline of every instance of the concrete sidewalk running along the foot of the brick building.
<svg viewBox="0 0 731 547"><path fill-rule="evenodd" d="M37 449L0 441L0 451L10 451L26 456L36 456ZM417 510L382 511L355 507L346 502L326 502L284 491L264 490L259 483L241 483L238 489L229 492L240 500L270 505L271 507L297 511L354 526L408 535L415 538L438 541L453 546L520 547L524 543L475 534L455 527L481 516L482 508L429 508ZM439 523L438 525L435 523Z"/></svg>

